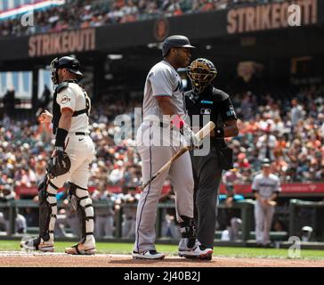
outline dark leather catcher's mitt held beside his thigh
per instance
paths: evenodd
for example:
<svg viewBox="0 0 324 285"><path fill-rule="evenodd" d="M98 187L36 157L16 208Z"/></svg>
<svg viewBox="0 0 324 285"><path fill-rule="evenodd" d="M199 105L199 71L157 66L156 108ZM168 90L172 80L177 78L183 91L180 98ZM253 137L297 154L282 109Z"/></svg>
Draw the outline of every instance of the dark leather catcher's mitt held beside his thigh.
<svg viewBox="0 0 324 285"><path fill-rule="evenodd" d="M57 151L57 153L50 159L46 170L50 179L57 176L65 175L69 172L71 167L71 161L69 160L69 155L65 151Z"/></svg>

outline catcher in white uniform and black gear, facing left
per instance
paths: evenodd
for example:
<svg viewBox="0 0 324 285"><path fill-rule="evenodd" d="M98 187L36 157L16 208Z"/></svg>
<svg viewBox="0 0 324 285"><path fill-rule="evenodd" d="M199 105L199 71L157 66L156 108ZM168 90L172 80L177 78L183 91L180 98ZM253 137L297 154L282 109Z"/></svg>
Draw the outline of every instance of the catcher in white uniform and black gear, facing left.
<svg viewBox="0 0 324 285"><path fill-rule="evenodd" d="M51 62L51 77L55 88L53 115L45 110L40 121L53 122L55 150L47 165L44 181L38 186L39 236L22 241L21 248L54 250L54 224L57 215L56 193L69 183L69 197L77 211L81 225L81 241L66 248L72 255L95 253L93 237L93 205L87 191L89 164L93 160L94 145L89 136L91 102L85 90L78 85L83 76L77 59L69 56Z"/></svg>

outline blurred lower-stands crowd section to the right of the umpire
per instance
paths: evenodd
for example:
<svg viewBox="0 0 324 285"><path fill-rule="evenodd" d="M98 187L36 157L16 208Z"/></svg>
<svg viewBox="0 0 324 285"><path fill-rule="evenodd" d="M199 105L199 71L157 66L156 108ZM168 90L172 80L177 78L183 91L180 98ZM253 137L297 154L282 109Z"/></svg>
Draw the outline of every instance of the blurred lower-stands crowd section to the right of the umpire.
<svg viewBox="0 0 324 285"><path fill-rule="evenodd" d="M250 183L260 161L268 158L282 182L324 181L323 98L323 85L301 88L290 98L234 95L239 136L229 142L236 162L234 171L226 175Z"/></svg>

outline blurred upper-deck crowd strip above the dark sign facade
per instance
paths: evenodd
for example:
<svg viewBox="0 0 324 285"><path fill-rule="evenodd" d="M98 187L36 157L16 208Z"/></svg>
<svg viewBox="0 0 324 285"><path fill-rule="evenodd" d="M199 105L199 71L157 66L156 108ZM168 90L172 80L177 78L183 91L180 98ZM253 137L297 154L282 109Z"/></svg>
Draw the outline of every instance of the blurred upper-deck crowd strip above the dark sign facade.
<svg viewBox="0 0 324 285"><path fill-rule="evenodd" d="M99 27L108 24L158 17L208 12L248 3L270 3L278 0L106 0L67 1L66 4L36 11L34 25L24 26L20 17L0 21L0 36L22 36L60 32L75 28Z"/></svg>

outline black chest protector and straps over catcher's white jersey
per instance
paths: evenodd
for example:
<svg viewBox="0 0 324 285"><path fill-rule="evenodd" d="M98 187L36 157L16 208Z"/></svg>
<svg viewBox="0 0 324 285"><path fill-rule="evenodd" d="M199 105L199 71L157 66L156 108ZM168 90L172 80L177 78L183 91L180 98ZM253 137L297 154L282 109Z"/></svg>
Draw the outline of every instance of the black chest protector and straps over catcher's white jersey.
<svg viewBox="0 0 324 285"><path fill-rule="evenodd" d="M61 107L56 102L57 94L59 94L65 88L68 88L69 83L75 83L75 84L77 84L77 80L67 80L67 81L63 81L61 84L57 85L57 87L55 88L55 92L54 92L54 95L53 95L53 119L52 119L52 123L53 123L53 134L56 133L56 129L59 126L59 122L60 122L60 118L61 118ZM84 91L84 94L85 94L85 91ZM85 94L85 109L75 110L74 113L73 113L73 115L72 115L72 117L77 117L78 115L81 115L81 114L84 114L84 113L87 116L89 116L89 107L90 107L90 102L86 98L86 94Z"/></svg>

